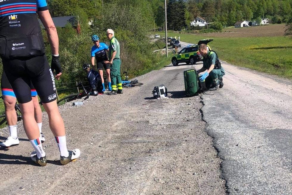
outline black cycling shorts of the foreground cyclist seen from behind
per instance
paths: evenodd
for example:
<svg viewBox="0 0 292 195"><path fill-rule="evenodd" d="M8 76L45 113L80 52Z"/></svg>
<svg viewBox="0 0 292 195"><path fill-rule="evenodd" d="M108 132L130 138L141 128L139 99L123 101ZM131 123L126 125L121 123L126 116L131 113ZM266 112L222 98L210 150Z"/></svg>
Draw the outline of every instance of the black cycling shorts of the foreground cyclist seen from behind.
<svg viewBox="0 0 292 195"><path fill-rule="evenodd" d="M45 55L32 58L2 59L3 69L19 103L30 102L32 82L43 103L57 98L55 79Z"/></svg>

